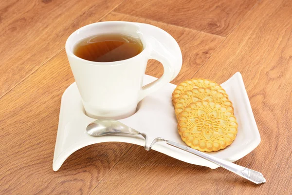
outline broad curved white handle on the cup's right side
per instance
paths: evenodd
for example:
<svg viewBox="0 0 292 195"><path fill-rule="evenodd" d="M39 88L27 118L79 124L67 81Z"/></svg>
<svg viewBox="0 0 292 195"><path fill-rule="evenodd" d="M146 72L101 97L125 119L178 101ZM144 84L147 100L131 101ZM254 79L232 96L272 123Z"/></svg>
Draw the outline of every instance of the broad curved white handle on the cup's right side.
<svg viewBox="0 0 292 195"><path fill-rule="evenodd" d="M159 30L163 31L162 29ZM183 60L180 46L168 33L165 31L163 33L164 38L162 40L158 40L153 36L147 40L147 43L150 47L148 58L161 62L164 68L164 74L161 78L142 87L139 101L176 78L181 70Z"/></svg>

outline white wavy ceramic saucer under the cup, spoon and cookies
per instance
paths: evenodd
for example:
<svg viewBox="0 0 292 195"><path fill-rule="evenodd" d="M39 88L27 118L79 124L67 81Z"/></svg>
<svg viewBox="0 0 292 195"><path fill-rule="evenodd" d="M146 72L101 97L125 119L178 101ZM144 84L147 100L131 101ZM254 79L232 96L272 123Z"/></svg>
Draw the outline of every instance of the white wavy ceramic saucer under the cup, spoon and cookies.
<svg viewBox="0 0 292 195"><path fill-rule="evenodd" d="M144 85L155 79L157 78L146 75ZM237 72L221 86L233 102L238 133L230 146L224 150L208 154L234 162L253 151L260 142L260 136L241 74ZM162 90L144 98L139 103L138 111L133 116L120 121L146 133L149 137L148 144L156 137L163 137L184 144L177 131L177 120L171 102L171 94L175 87L176 85L168 83ZM74 82L65 90L61 100L53 160L54 171L57 171L73 152L91 144L117 141L145 145L144 138L140 136L91 137L87 134L86 127L94 120L94 118L85 115L81 97ZM152 149L187 163L206 166L211 169L218 167L216 164L162 142L156 143Z"/></svg>

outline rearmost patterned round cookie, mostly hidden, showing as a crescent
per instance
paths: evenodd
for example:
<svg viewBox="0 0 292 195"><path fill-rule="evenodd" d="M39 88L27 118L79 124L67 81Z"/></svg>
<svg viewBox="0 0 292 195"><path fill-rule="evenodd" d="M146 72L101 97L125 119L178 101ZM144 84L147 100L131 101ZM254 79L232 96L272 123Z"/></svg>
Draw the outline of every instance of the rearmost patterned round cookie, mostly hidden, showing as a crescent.
<svg viewBox="0 0 292 195"><path fill-rule="evenodd" d="M192 90L194 88L208 88L210 87L211 89L218 90L222 94L224 94L226 97L228 95L226 94L225 90L216 82L208 80L208 79L203 79L203 78L194 78L194 79L188 79L183 81L181 84L179 84L175 90L172 93L172 103L173 105L176 104L178 101L178 98L187 90Z"/></svg>

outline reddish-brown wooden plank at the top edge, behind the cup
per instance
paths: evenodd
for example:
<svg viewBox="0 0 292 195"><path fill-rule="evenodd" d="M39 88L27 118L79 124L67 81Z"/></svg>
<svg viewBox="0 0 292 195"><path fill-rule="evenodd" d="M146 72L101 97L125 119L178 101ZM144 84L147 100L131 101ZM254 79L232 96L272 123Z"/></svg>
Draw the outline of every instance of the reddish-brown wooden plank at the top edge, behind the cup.
<svg viewBox="0 0 292 195"><path fill-rule="evenodd" d="M228 36L256 0L126 0L114 11Z"/></svg>

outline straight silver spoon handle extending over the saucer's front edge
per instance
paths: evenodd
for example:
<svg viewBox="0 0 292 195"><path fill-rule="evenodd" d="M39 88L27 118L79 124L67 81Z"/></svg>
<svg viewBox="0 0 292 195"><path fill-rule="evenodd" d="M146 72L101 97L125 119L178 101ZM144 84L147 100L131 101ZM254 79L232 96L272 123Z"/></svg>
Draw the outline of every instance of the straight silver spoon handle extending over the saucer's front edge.
<svg viewBox="0 0 292 195"><path fill-rule="evenodd" d="M234 164L232 162L228 162L226 160L222 160L220 158L217 158L217 157L214 157L211 155L207 155L203 152L200 152L198 150L183 146L183 145L178 144L178 143L173 142L173 141L169 141L169 140L165 140L165 141L168 145L182 149L182 150L189 152L189 153L192 153L196 156L200 156L200 157L202 157L210 162L213 162L213 163L219 165L220 167L223 167L224 169L227 169L228 171L231 171L231 172L237 174L238 176L242 176L242 177L244 177L244 178L246 178L246 179L248 179L256 184L261 184L261 183L266 182L266 179L264 178L264 176L257 171L239 166L239 165Z"/></svg>

